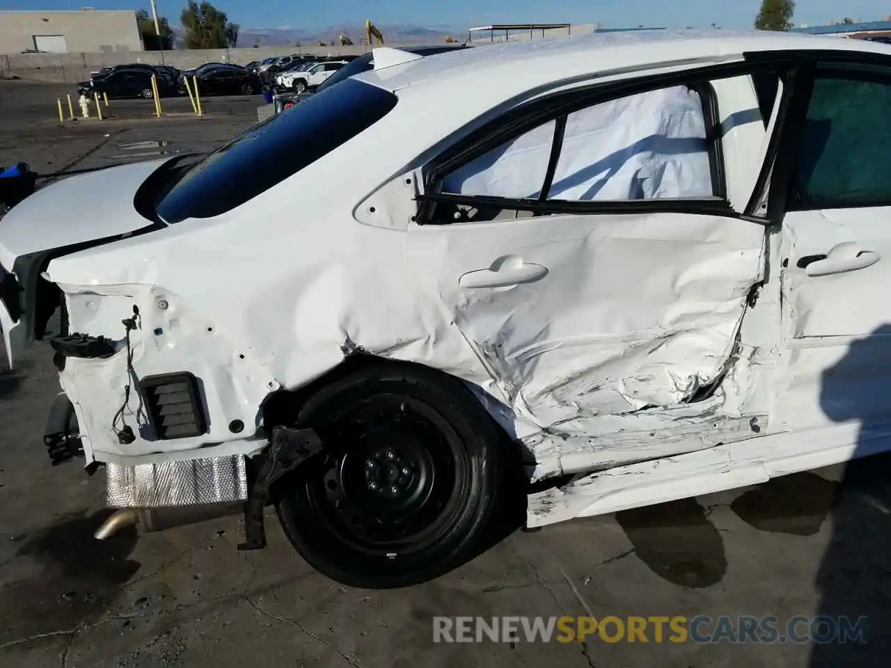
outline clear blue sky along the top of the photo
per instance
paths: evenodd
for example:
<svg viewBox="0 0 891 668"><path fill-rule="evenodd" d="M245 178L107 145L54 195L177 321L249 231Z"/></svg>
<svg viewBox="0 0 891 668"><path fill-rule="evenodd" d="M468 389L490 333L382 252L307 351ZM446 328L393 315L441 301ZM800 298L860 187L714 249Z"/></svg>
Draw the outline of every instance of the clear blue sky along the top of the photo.
<svg viewBox="0 0 891 668"><path fill-rule="evenodd" d="M158 11L179 23L185 0L156 0ZM761 0L215 0L218 9L242 28L289 26L318 29L376 23L466 29L488 23L601 23L604 28L749 28ZM369 6L373 5L374 9ZM148 8L149 0L0 0L0 10ZM881 0L797 0L797 24L820 24L850 17L884 20L891 4Z"/></svg>

